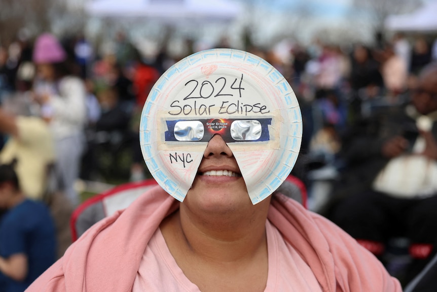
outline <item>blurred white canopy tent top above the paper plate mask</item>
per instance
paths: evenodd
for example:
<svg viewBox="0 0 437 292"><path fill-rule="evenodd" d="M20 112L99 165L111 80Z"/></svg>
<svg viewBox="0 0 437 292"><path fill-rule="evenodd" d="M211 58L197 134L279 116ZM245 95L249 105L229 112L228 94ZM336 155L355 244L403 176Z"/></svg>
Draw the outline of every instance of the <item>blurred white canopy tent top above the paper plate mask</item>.
<svg viewBox="0 0 437 292"><path fill-rule="evenodd" d="M230 22L241 14L239 3L231 0L90 0L90 16L143 18L167 24L183 22Z"/></svg>

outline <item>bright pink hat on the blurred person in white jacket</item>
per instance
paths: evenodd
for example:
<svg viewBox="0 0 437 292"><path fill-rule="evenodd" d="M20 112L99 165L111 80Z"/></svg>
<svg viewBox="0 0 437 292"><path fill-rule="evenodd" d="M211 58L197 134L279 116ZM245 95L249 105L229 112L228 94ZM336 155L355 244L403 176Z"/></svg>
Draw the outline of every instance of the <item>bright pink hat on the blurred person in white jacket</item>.
<svg viewBox="0 0 437 292"><path fill-rule="evenodd" d="M66 57L65 50L53 35L46 33L35 41L33 48L34 63L58 63L64 61Z"/></svg>

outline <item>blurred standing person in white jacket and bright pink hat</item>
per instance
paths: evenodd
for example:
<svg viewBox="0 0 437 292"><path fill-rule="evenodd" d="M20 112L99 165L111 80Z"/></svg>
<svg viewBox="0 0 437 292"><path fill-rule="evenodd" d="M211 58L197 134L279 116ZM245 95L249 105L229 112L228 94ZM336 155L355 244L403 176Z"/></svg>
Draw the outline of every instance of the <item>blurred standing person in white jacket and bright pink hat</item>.
<svg viewBox="0 0 437 292"><path fill-rule="evenodd" d="M42 34L33 50L37 79L33 84L41 115L50 123L55 139L56 174L60 190L73 205L79 204L74 183L79 176L84 148L86 90L82 79L71 74L67 55L51 34Z"/></svg>

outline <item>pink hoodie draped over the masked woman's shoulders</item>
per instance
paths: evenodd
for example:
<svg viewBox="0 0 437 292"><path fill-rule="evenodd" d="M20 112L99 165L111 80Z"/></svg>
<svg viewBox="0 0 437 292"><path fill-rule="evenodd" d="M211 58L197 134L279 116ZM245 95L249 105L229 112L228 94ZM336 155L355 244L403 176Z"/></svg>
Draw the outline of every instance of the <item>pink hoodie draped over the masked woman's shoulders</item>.
<svg viewBox="0 0 437 292"><path fill-rule="evenodd" d="M26 292L131 291L145 247L178 206L154 187L125 211L94 224ZM402 292L370 252L296 201L276 194L268 218L311 267L323 291Z"/></svg>

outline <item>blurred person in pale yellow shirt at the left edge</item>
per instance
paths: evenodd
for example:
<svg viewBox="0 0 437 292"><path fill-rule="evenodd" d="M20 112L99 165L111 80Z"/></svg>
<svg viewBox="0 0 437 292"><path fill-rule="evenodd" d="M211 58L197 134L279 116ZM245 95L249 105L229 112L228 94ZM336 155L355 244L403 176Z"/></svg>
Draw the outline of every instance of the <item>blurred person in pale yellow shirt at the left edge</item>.
<svg viewBox="0 0 437 292"><path fill-rule="evenodd" d="M0 133L7 139L0 150L0 162L16 160L15 171L26 198L41 201L51 210L56 223L58 256L71 244L69 216L72 205L57 189L54 176L56 161L53 136L47 122L30 115L32 102L26 95L16 95L0 107Z"/></svg>

